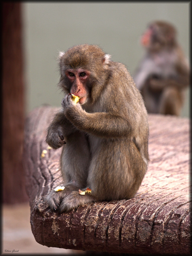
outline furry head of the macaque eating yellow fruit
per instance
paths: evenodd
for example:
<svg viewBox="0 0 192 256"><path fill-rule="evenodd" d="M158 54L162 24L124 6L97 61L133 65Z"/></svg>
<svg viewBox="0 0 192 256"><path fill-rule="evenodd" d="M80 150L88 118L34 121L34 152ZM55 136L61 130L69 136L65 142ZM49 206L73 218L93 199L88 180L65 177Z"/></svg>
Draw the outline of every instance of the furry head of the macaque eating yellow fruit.
<svg viewBox="0 0 192 256"><path fill-rule="evenodd" d="M80 97L80 104L88 99L98 97L96 91L101 89L109 74L110 56L95 45L78 45L60 52L59 86L66 93Z"/></svg>

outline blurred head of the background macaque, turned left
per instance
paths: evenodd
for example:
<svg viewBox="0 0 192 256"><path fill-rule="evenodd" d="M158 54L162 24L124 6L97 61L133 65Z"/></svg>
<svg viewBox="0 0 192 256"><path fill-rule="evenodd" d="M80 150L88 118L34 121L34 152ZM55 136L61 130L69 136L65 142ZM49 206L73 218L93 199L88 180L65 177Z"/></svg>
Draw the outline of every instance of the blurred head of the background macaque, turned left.
<svg viewBox="0 0 192 256"><path fill-rule="evenodd" d="M176 44L176 30L165 21L151 22L141 38L141 44L149 50L159 51Z"/></svg>

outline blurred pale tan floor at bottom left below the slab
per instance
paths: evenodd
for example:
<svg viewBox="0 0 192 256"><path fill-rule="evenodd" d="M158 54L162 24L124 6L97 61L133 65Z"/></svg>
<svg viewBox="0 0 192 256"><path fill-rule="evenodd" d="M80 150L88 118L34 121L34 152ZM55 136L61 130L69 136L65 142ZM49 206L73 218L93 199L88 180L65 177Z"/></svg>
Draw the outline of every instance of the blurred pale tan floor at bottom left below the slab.
<svg viewBox="0 0 192 256"><path fill-rule="evenodd" d="M13 250L16 254L85 254L84 251L46 247L37 243L31 231L29 203L2 206L1 254L10 254Z"/></svg>

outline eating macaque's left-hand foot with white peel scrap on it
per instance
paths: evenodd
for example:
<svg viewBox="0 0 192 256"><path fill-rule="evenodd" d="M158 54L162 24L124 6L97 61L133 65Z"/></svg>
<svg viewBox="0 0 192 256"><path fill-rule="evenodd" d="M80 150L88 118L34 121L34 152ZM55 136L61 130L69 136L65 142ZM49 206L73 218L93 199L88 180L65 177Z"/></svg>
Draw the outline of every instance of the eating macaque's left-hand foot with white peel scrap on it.
<svg viewBox="0 0 192 256"><path fill-rule="evenodd" d="M63 185L61 185L62 187ZM59 208L60 203L64 200L64 198L71 194L72 191L78 190L78 187L75 185L64 185L63 190L55 191L54 189L50 191L48 195L45 197L45 201L49 205L52 210L57 210Z"/></svg>

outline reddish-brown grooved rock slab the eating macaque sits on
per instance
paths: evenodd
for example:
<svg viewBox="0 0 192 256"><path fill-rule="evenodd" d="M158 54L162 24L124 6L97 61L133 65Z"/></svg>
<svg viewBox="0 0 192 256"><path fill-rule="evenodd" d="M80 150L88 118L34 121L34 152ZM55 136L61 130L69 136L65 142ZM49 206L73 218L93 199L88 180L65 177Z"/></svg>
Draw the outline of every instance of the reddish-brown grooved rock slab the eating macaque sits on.
<svg viewBox="0 0 192 256"><path fill-rule="evenodd" d="M57 110L37 108L25 126L26 188L36 241L65 249L189 254L189 119L149 115L150 162L134 198L96 202L59 214L44 202L47 192L61 181L61 149L47 149L45 143L46 128Z"/></svg>

